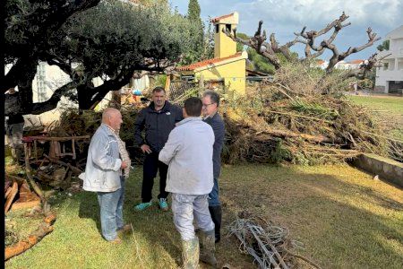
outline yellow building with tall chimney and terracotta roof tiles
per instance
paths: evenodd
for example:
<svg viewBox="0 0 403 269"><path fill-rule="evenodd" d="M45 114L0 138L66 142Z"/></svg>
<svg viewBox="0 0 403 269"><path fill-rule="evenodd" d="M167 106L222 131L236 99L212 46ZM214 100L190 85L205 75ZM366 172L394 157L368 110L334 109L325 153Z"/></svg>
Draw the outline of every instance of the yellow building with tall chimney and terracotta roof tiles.
<svg viewBox="0 0 403 269"><path fill-rule="evenodd" d="M234 30L238 13L231 13L211 20L214 24L214 58L178 67L182 75L192 75L196 82L218 82L226 90L245 92L246 51L236 53L236 42L222 32Z"/></svg>

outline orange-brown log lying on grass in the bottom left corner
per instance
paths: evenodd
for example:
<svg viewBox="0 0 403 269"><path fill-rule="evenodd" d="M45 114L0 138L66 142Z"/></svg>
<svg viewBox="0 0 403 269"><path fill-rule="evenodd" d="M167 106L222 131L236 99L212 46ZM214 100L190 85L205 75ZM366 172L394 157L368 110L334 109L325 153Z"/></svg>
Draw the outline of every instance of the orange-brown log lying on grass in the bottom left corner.
<svg viewBox="0 0 403 269"><path fill-rule="evenodd" d="M4 251L4 261L8 260L13 256L20 255L25 250L30 249L30 247L35 246L43 239L48 233L54 230L53 223L56 221L56 216L51 214L48 215L42 223L40 223L39 228L32 232L28 239L21 240L20 242L14 244L10 247L5 247Z"/></svg>

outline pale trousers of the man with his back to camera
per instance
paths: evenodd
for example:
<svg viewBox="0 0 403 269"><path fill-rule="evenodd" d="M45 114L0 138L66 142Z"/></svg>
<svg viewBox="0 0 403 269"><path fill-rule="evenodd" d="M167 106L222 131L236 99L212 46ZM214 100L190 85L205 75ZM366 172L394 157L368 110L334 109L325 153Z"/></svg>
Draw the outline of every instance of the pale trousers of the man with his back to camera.
<svg viewBox="0 0 403 269"><path fill-rule="evenodd" d="M174 223L182 240L195 238L193 217L196 225L203 231L214 230L211 220L207 195L172 194L172 212Z"/></svg>

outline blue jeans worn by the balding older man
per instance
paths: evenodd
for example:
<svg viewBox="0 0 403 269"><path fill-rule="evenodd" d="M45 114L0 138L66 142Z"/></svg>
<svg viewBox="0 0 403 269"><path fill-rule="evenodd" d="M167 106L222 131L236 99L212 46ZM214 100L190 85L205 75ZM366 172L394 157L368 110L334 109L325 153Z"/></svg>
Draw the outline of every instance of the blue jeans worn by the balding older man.
<svg viewBox="0 0 403 269"><path fill-rule="evenodd" d="M116 239L117 230L121 230L124 227L124 177L120 178L120 184L122 187L114 192L97 193L102 236L107 241Z"/></svg>

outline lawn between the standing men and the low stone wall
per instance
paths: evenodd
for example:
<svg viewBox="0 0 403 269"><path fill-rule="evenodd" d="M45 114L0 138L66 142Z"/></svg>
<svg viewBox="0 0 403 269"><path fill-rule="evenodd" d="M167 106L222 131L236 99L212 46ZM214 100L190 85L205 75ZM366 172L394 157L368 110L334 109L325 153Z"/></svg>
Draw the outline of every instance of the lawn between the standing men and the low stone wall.
<svg viewBox="0 0 403 269"><path fill-rule="evenodd" d="M248 178L247 169L261 173L253 171ZM226 169L224 218L234 220L245 208L259 213L287 227L291 238L304 243L300 253L326 268L401 268L403 204L377 192L374 182L359 186L337 174L260 166Z"/></svg>

